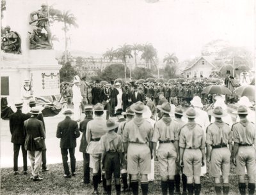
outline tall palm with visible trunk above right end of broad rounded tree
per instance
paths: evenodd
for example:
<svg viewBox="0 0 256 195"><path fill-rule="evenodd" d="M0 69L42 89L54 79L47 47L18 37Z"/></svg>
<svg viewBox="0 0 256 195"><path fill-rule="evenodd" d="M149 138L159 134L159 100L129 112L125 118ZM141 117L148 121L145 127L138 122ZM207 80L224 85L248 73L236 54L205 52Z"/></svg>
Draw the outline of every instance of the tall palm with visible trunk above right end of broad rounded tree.
<svg viewBox="0 0 256 195"><path fill-rule="evenodd" d="M132 57L132 47L131 45L126 45L126 43L123 46L119 46L119 48L116 49L116 57L119 59L122 59L124 62L124 77L126 80L126 59L127 57L131 58ZM131 78L131 72L130 72L130 78Z"/></svg>

